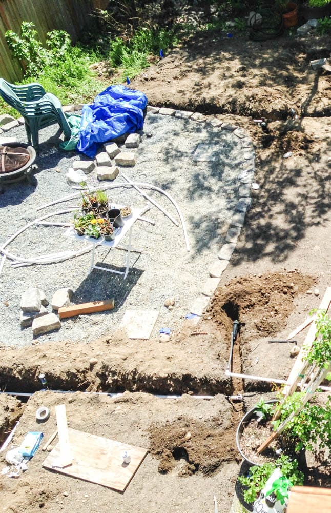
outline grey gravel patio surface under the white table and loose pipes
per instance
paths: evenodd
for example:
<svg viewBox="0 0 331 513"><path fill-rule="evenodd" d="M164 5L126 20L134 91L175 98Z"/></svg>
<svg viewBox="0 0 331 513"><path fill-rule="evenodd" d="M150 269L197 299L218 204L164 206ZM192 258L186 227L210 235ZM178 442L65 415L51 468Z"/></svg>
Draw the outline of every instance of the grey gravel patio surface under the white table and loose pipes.
<svg viewBox="0 0 331 513"><path fill-rule="evenodd" d="M152 132L148 138L146 132ZM24 126L9 132L18 141L26 142ZM133 228L134 247L143 252L131 253L130 271L122 277L94 269L87 275L90 253L56 264L32 265L12 268L7 260L0 276L0 342L4 345L24 346L33 341L31 328L20 328L19 303L24 290L39 286L49 301L61 287L73 290L73 303L115 298L115 309L63 320L60 330L39 336L38 343L52 340L86 340L112 332L120 324L128 309L156 309L159 317L152 335L161 327L176 329L197 297L204 281L209 277L209 266L217 260L227 228L238 202L241 141L233 133L210 125L170 116L148 113L141 131L139 148L134 151L137 165L120 168L131 180L148 182L166 190L179 204L189 235L190 253L185 248L181 227L176 227L158 209L151 206L146 214L155 226L138 221ZM74 193L66 181L66 172L74 160L83 156L58 148L56 127L40 132L38 170L32 179L16 184L0 183L2 194L3 244L15 231L39 216L78 205L71 200L36 211L36 208L61 196ZM217 162L194 162L193 154L199 144L217 145L220 159ZM124 148L122 148L124 149ZM114 182L122 182L119 175ZM87 175L90 187L97 184L96 171ZM105 183L105 182L104 182ZM178 221L178 214L171 202L155 191L146 191ZM134 189L116 188L108 191L113 203L143 207L149 202ZM69 206L69 207L68 207ZM50 221L67 222L71 214L57 215ZM80 241L69 240L59 227L33 226L19 235L8 249L25 257L42 255L68 249L80 250ZM123 239L125 244L126 239ZM95 262L105 258L106 266L123 270L126 252L113 249L109 254L104 247L96 249ZM175 297L172 311L164 301ZM51 307L48 307L51 311Z"/></svg>

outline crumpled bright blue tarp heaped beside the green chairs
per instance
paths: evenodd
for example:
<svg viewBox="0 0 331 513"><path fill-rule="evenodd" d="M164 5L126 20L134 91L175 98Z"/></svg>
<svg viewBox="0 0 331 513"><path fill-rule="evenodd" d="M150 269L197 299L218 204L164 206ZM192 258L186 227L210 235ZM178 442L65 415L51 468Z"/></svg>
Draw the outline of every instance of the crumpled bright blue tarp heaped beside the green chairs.
<svg viewBox="0 0 331 513"><path fill-rule="evenodd" d="M125 86L110 86L82 108L77 150L91 159L101 143L143 127L147 97Z"/></svg>

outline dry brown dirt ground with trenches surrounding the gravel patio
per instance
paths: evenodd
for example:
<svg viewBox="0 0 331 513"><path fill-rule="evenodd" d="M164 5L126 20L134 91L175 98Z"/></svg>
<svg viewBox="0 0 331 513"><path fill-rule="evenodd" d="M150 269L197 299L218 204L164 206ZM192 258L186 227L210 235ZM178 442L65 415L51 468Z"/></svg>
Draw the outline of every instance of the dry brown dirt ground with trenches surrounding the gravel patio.
<svg viewBox="0 0 331 513"><path fill-rule="evenodd" d="M283 379L293 365L290 347L268 340L284 339L331 284L331 78L309 67L313 58L329 54L329 40L315 36L262 43L244 36L201 37L132 81L151 105L214 114L249 130L260 188L197 326L183 324L168 343L130 341L118 331L89 344L68 340L56 347L3 350L2 389L39 390L37 377L45 372L52 389L137 392L121 399L76 392L73 402L39 392L28 401L14 442L39 427L35 410L42 403L51 407L43 426L47 438L55 427L54 405L65 402L71 427L149 449L123 495L43 469L39 451L18 480L1 477L3 511L208 512L214 510L214 494L219 511L230 510L239 471L236 424L252 402L249 394L270 388L225 377L233 320L241 323L234 369ZM246 69L238 71L239 65ZM297 119L289 119L290 108ZM253 122L261 116L268 133ZM287 151L293 155L284 159ZM297 337L299 345L303 338ZM219 395L210 401L161 400L141 391ZM242 405L224 397L240 391ZM11 398L3 402L0 433L23 409ZM192 439L183 441L188 430Z"/></svg>

